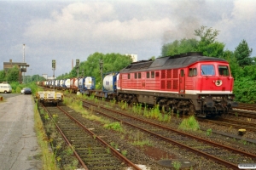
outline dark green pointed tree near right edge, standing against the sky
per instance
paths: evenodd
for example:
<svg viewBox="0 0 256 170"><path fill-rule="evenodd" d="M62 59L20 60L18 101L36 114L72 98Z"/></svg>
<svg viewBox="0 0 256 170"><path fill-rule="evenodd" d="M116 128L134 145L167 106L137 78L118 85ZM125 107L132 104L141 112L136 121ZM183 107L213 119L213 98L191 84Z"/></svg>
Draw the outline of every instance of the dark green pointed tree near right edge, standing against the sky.
<svg viewBox="0 0 256 170"><path fill-rule="evenodd" d="M252 65L253 59L250 55L253 53L253 48L249 48L245 40L242 40L235 49L235 57L238 65L244 67L245 65Z"/></svg>

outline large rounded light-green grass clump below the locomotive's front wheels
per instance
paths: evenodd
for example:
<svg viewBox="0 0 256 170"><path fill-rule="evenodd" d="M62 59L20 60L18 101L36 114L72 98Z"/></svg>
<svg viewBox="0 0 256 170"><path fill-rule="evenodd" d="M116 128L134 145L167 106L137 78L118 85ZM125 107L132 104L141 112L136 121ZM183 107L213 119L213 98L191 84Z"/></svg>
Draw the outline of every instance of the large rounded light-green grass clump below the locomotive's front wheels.
<svg viewBox="0 0 256 170"><path fill-rule="evenodd" d="M196 131L200 129L200 126L199 123L195 120L195 116L189 116L189 118L183 119L183 122L181 122L178 128L183 130Z"/></svg>

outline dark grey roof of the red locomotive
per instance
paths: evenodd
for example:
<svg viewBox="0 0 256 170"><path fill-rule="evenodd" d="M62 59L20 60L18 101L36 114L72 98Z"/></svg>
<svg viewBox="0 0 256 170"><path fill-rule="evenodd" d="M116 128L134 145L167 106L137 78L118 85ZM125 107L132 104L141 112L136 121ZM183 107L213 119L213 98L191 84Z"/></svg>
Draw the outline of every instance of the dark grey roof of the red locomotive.
<svg viewBox="0 0 256 170"><path fill-rule="evenodd" d="M202 56L202 54L198 52L190 52L187 54L177 54L174 56L161 57L155 60L149 59L149 60L133 62L131 63L131 65L126 66L120 72L122 73L122 72L134 72L134 71L177 69L177 68L183 68L201 61L227 62L224 59Z"/></svg>

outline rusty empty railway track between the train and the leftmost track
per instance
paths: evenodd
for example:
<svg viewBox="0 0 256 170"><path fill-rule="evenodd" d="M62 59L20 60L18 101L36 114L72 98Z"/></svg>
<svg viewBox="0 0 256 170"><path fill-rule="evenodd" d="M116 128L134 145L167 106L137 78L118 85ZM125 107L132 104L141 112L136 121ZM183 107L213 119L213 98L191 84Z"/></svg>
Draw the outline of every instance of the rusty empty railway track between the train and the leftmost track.
<svg viewBox="0 0 256 170"><path fill-rule="evenodd" d="M140 129L145 133L149 133L157 139L165 140L171 144L175 144L186 150L190 150L197 155L201 155L216 161L226 167L237 169L237 165L246 162L255 161L256 155L236 150L229 146L218 144L207 139L197 138L188 133L182 133L171 127L161 126L152 122L139 119L137 117L123 113L123 111L115 111L104 107L103 105L96 105L88 101L83 101L83 106L96 111L97 114L108 116L111 119L122 122L125 125Z"/></svg>

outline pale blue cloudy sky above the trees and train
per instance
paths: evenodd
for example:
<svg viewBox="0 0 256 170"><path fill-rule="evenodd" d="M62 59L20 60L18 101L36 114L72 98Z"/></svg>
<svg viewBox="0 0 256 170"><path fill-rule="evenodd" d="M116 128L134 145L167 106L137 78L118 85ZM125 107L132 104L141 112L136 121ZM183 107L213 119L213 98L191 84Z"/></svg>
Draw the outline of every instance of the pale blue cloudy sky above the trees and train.
<svg viewBox="0 0 256 170"><path fill-rule="evenodd" d="M90 54L137 54L149 59L167 42L197 38L201 26L218 30L234 51L244 39L256 56L254 0L0 0L0 71L3 62L25 62L26 75L69 73ZM23 49L25 44L25 50ZM25 53L24 53L25 52Z"/></svg>

